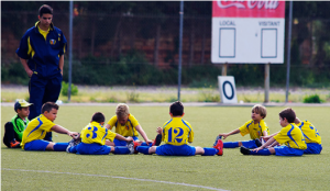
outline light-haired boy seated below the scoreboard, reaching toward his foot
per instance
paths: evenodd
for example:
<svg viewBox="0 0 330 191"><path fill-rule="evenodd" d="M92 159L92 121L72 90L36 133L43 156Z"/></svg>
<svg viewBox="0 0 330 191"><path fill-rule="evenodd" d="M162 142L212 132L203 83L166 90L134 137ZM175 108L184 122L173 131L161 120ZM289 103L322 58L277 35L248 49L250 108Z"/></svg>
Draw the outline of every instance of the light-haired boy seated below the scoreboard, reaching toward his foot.
<svg viewBox="0 0 330 191"><path fill-rule="evenodd" d="M261 104L256 104L252 108L251 119L243 126L230 132L230 133L220 133L217 139L226 139L230 135L241 133L242 136L250 134L251 141L245 142L224 142L223 148L235 148L244 146L246 148L256 148L260 147L261 136L267 136L270 134L270 128L267 127L264 119L267 115L267 110Z"/></svg>

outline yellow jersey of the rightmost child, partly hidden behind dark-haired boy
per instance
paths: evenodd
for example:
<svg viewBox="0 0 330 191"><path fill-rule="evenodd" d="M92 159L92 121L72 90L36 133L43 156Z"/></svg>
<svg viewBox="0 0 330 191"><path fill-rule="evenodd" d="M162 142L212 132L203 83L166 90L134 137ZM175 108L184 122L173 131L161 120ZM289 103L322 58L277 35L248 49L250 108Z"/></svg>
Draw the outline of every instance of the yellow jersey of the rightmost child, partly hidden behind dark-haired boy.
<svg viewBox="0 0 330 191"><path fill-rule="evenodd" d="M301 130L306 143L321 144L321 136L318 130L309 121L301 121L297 126Z"/></svg>

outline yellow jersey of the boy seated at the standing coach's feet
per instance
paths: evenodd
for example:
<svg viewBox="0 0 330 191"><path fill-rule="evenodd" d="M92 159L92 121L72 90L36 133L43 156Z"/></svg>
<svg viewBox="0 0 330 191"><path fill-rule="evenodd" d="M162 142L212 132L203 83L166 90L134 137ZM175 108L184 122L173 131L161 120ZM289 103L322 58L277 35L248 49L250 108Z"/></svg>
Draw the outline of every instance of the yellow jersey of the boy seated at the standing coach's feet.
<svg viewBox="0 0 330 191"><path fill-rule="evenodd" d="M35 139L43 139L46 136L47 132L51 132L52 127L55 125L51 120L46 119L45 115L41 114L34 120L32 120L24 133L21 146L24 148L24 145L29 142L35 141Z"/></svg>

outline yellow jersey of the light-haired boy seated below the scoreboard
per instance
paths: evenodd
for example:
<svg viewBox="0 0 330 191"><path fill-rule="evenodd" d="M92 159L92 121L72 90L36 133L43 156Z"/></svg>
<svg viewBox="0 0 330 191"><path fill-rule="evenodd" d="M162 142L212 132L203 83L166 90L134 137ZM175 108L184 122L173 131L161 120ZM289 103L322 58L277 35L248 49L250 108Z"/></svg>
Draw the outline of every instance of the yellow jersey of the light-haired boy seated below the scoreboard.
<svg viewBox="0 0 330 191"><path fill-rule="evenodd" d="M264 120L261 120L258 123L254 124L253 120L248 121L243 126L240 127L240 133L242 136L250 134L251 139L260 138L265 136L263 132L266 131L270 135L270 128Z"/></svg>

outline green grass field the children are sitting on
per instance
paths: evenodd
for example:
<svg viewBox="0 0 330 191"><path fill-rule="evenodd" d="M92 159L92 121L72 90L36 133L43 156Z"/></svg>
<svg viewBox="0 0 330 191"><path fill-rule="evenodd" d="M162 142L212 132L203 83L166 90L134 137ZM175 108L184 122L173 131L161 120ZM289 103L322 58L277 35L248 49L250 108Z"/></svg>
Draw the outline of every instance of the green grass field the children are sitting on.
<svg viewBox="0 0 330 191"><path fill-rule="evenodd" d="M62 105L56 124L80 131L92 113L109 120L113 106ZM280 130L278 112L268 106L265 119L271 133ZM322 137L321 155L302 157L243 156L239 148L223 156L161 157L156 155L80 156L55 151L23 151L1 145L1 190L329 190L330 108L296 106L300 120L309 120ZM1 133L13 115L1 106ZM168 106L130 106L150 138L169 119ZM194 146L210 147L219 133L238 128L250 120L250 106L186 106L185 120L194 128ZM68 142L53 134L54 142ZM2 137L2 136L1 136ZM227 141L245 141L233 135Z"/></svg>

